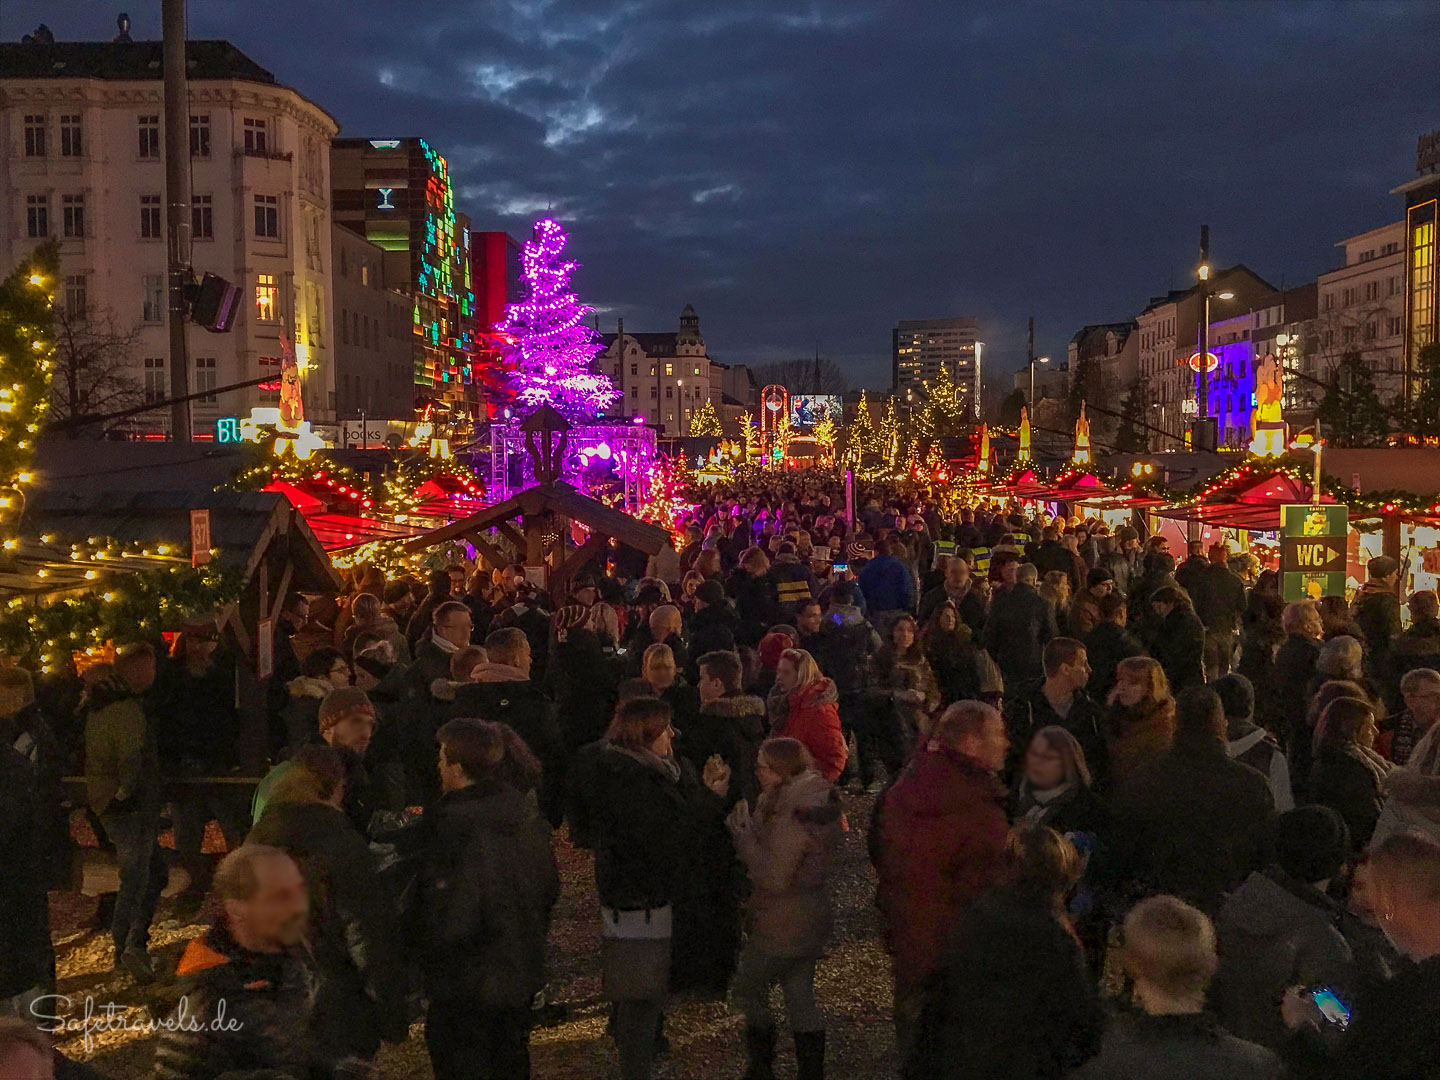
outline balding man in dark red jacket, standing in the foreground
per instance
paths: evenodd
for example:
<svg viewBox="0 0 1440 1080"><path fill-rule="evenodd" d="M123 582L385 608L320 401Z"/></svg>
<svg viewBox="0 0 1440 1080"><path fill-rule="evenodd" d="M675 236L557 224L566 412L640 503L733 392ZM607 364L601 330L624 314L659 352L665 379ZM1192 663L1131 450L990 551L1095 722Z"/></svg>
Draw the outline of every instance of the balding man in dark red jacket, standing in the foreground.
<svg viewBox="0 0 1440 1080"><path fill-rule="evenodd" d="M886 948L894 963L896 1045L914 1047L924 986L965 912L1005 873L1005 721L956 701L880 796L870 828Z"/></svg>

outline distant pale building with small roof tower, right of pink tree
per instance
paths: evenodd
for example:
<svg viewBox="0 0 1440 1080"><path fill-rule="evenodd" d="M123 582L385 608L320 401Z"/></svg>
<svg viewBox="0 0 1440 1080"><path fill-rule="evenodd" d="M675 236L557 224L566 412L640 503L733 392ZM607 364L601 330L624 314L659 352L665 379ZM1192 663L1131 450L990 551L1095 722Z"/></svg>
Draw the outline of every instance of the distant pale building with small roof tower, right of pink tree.
<svg viewBox="0 0 1440 1080"><path fill-rule="evenodd" d="M680 330L668 334L631 334L624 323L616 334L602 334L605 351L595 359L621 392L609 415L641 416L662 438L690 435L690 419L713 397L710 353L700 334L700 315L685 304Z"/></svg>

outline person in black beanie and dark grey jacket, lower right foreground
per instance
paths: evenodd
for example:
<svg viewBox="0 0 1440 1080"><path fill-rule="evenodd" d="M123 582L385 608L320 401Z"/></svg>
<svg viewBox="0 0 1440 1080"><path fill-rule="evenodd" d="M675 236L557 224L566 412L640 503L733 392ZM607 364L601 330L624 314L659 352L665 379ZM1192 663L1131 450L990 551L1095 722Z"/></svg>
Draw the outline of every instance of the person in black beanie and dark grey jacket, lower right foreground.
<svg viewBox="0 0 1440 1080"><path fill-rule="evenodd" d="M1220 909L1220 971L1211 996L1225 1028L1279 1048L1277 1002L1290 986L1329 986L1352 1001L1355 958L1341 904L1326 894L1349 852L1349 831L1329 806L1302 806L1274 825L1274 863L1246 878Z"/></svg>

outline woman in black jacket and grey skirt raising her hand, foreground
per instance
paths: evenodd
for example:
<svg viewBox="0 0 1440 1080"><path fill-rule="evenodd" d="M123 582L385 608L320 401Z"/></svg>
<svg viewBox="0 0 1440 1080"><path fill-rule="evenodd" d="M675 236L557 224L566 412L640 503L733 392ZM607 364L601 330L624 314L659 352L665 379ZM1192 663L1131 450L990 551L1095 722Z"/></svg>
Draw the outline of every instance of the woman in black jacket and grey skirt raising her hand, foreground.
<svg viewBox="0 0 1440 1080"><path fill-rule="evenodd" d="M730 769L703 776L674 755L670 706L621 703L602 743L582 750L570 788L570 835L595 851L600 968L625 1080L648 1080L670 989L674 904L696 835L723 821Z"/></svg>

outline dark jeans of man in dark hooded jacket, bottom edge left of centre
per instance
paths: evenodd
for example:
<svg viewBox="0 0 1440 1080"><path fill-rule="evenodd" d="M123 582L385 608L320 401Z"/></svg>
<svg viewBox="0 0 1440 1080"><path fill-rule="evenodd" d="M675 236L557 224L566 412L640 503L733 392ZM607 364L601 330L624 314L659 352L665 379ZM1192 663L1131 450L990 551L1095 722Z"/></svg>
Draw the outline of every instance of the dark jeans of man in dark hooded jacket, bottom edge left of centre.
<svg viewBox="0 0 1440 1080"><path fill-rule="evenodd" d="M435 1080L528 1080L530 1008L432 1001L425 1045Z"/></svg>

